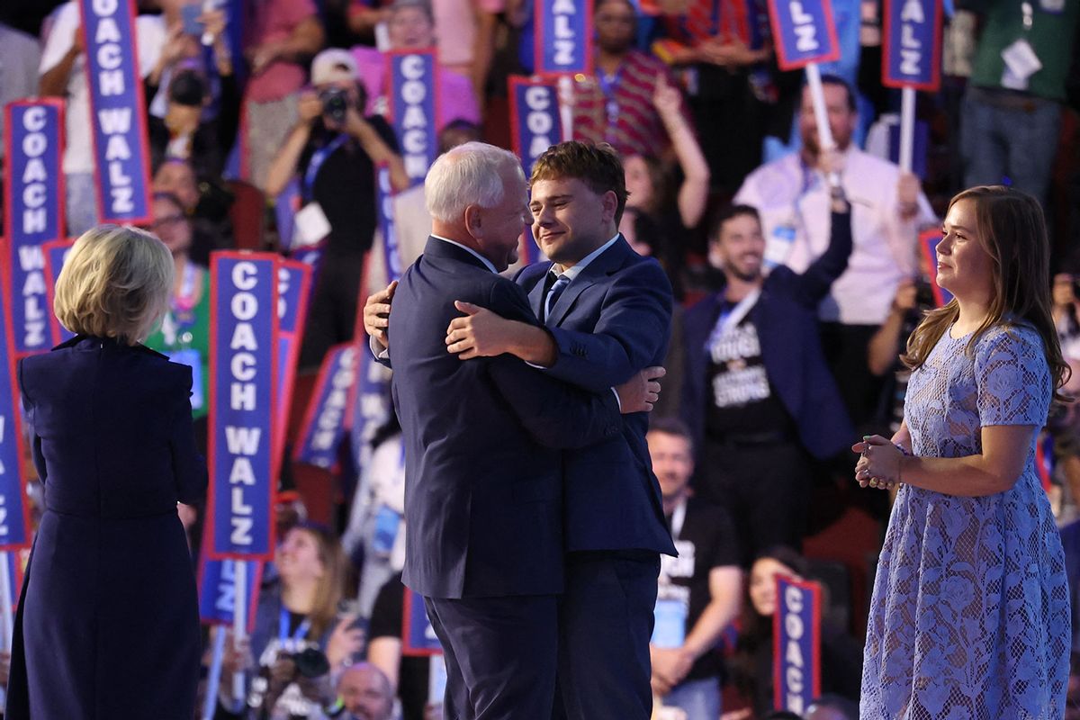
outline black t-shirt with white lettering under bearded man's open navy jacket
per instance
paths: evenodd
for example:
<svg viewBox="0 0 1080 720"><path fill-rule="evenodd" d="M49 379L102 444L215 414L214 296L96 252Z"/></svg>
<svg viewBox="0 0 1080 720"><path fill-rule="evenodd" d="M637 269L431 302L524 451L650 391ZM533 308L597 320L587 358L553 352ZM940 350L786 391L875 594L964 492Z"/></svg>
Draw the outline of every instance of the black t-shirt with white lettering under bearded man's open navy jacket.
<svg viewBox="0 0 1080 720"><path fill-rule="evenodd" d="M727 300L720 317L734 309ZM791 426L791 416L765 369L753 309L723 335L715 330L705 348L705 432L715 439L735 433L774 433Z"/></svg>

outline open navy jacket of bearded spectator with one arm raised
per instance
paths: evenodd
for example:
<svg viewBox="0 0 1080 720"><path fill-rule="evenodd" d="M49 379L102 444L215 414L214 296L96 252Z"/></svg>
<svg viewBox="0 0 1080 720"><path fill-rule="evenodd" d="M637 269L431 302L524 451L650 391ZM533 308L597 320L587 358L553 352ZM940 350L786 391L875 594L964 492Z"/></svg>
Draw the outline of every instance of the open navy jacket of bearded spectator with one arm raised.
<svg viewBox="0 0 1080 720"><path fill-rule="evenodd" d="M761 359L804 447L815 458L827 458L851 445L854 431L825 364L818 331L818 303L847 269L851 255L849 214L833 214L828 248L807 271L786 266L765 279L761 297L750 312L761 343ZM683 418L694 436L699 461L705 437L705 410L711 402L705 385L708 351L705 344L719 318L724 289L686 312L686 366L683 377ZM699 463L700 467L700 463Z"/></svg>

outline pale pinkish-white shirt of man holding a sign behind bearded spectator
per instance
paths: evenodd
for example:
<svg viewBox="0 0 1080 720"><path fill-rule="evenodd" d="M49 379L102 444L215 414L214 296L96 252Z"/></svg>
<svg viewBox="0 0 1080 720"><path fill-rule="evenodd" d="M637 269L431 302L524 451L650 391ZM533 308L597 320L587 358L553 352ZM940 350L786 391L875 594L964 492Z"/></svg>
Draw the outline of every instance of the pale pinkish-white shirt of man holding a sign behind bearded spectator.
<svg viewBox="0 0 1080 720"><path fill-rule="evenodd" d="M823 321L880 325L889 316L896 286L915 274L918 230L936 223L919 193L916 217L902 220L896 200L900 167L858 148L845 153L843 190L851 204L852 252L819 310ZM735 193L734 203L761 214L766 256L804 272L828 247L829 194L823 175L804 167L798 153L758 167ZM785 243L784 234L794 240Z"/></svg>

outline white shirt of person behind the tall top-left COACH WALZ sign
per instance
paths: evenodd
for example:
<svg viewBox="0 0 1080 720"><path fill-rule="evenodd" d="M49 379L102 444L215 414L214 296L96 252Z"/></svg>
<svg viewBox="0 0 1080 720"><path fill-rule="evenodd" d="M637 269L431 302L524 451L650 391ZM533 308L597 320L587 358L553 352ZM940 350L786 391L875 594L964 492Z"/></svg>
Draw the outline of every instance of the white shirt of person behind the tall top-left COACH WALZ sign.
<svg viewBox="0 0 1080 720"><path fill-rule="evenodd" d="M71 39L79 27L79 8L71 0L54 13L52 29L41 52L39 74L56 67L71 47ZM135 18L138 44L139 77L146 78L158 64L165 44L165 21L161 16L139 15ZM86 54L81 53L71 66L67 82L67 105L64 109L67 133L64 148L64 173L93 173L94 146L90 117L90 86L86 83ZM143 111L139 108L139 111Z"/></svg>

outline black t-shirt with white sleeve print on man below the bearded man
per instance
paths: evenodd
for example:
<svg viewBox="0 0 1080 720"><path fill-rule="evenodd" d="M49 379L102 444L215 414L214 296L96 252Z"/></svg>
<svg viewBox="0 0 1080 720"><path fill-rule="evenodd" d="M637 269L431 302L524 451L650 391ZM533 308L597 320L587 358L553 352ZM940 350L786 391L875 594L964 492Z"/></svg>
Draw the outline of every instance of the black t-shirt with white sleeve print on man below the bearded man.
<svg viewBox="0 0 1080 720"><path fill-rule="evenodd" d="M731 517L720 505L697 498L689 500L683 527L678 529L677 535L676 528L672 527L672 516L667 516L666 521L679 556L661 557L661 585L664 579L667 579L671 585L689 590L685 637L693 629L712 599L708 590L708 573L714 568L738 567L739 547ZM664 595L663 587L660 595ZM674 595L678 596L680 593L676 592ZM687 674L686 680L720 677L723 671L720 655L714 649L698 658Z"/></svg>

